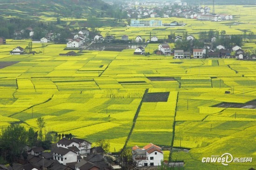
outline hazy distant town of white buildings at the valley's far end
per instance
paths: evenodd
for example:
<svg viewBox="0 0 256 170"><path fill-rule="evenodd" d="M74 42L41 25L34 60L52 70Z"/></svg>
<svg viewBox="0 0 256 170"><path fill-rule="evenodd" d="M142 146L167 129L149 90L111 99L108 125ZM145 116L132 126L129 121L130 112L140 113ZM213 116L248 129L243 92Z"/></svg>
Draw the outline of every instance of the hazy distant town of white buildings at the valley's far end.
<svg viewBox="0 0 256 170"><path fill-rule="evenodd" d="M135 5L130 5L135 4ZM157 5L156 5L157 4ZM177 6L174 6L177 4ZM138 7L135 7L138 6ZM147 8L152 7L152 8ZM168 8L168 9L166 9ZM188 6L186 2L135 2L124 8L132 19L182 17L186 19L224 21L233 20L233 15L210 13L210 7ZM159 11L163 14L159 15ZM157 13L158 12L158 13ZM141 22L141 21L140 21ZM138 21L136 24L139 24ZM141 23L142 24L142 23ZM134 25L134 24L133 24ZM131 24L131 26L133 26ZM145 25L146 26L146 25Z"/></svg>

